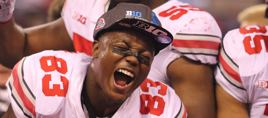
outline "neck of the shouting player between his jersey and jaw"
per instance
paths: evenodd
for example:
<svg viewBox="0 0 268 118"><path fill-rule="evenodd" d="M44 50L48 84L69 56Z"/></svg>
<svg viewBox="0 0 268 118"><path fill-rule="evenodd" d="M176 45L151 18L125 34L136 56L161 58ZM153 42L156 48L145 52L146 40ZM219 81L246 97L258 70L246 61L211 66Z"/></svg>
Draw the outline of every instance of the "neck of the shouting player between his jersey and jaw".
<svg viewBox="0 0 268 118"><path fill-rule="evenodd" d="M89 66L86 76L86 90L87 96L90 99L92 105L92 110L97 117L108 117L119 109L119 107L124 103L116 103L105 94L100 86L97 84L96 76L94 76L93 69ZM88 109L89 110L89 109Z"/></svg>

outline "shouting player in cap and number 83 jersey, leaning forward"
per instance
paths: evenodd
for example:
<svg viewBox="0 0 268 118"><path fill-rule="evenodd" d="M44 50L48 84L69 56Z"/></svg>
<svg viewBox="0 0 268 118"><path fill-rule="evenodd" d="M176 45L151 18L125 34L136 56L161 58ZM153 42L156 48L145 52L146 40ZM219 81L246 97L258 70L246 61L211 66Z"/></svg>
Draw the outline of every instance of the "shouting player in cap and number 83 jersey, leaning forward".
<svg viewBox="0 0 268 118"><path fill-rule="evenodd" d="M139 12L146 21L126 18L127 11ZM141 85L154 56L173 40L161 24L150 23L158 21L151 9L120 3L98 21L92 58L49 50L15 65L7 82L13 111L9 106L4 117L15 117L13 112L16 117L49 118L187 117L170 87L159 82L151 86L160 88ZM154 32L143 30L145 25Z"/></svg>

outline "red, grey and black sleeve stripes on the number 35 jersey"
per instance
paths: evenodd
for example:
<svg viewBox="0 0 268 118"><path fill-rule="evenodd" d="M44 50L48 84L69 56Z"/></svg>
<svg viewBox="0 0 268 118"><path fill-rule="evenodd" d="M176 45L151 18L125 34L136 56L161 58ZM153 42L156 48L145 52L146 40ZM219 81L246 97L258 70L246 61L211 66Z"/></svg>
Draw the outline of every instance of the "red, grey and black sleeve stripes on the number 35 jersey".
<svg viewBox="0 0 268 118"><path fill-rule="evenodd" d="M242 80L240 78L239 67L226 54L223 45L220 49L217 61L218 67L220 68L221 74L224 76L224 78L237 88L245 90L245 88L243 87Z"/></svg>

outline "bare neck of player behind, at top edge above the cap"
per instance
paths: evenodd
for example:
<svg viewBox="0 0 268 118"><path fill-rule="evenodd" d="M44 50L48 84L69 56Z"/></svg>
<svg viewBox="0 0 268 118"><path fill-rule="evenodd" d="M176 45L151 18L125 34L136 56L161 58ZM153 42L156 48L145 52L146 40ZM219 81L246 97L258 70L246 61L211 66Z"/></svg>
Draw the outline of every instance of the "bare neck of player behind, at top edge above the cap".
<svg viewBox="0 0 268 118"><path fill-rule="evenodd" d="M166 3L168 0L141 0L140 2L137 2L138 4L144 4L146 6L149 6L150 9L155 9L158 6ZM111 1L110 6L108 10L113 9L119 2Z"/></svg>

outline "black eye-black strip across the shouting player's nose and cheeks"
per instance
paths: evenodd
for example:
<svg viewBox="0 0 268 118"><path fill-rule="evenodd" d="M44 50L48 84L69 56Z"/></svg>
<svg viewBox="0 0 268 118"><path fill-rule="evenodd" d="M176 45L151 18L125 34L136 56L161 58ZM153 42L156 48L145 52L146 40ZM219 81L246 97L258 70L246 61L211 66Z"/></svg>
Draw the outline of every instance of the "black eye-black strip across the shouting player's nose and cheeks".
<svg viewBox="0 0 268 118"><path fill-rule="evenodd" d="M115 49L115 48L112 49L112 52L117 53L119 55L122 55L124 57L126 57L126 56L134 56L139 60L140 63L143 63L144 65L146 65L148 67L151 66L148 61L146 61L143 58L141 58L141 56L138 54L138 52L126 52L126 51L121 51L121 50L118 50L118 49Z"/></svg>

